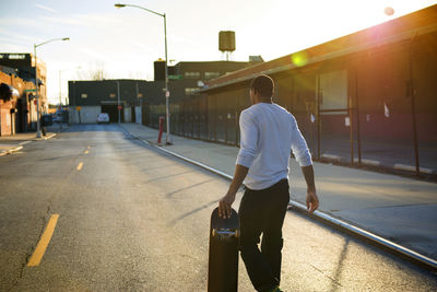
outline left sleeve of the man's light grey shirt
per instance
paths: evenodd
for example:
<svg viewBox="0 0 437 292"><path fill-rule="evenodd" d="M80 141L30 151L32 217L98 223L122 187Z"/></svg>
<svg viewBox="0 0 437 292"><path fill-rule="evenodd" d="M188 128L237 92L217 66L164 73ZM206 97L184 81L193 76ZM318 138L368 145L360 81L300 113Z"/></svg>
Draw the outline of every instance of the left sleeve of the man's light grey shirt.
<svg viewBox="0 0 437 292"><path fill-rule="evenodd" d="M250 168L256 157L258 145L258 127L255 117L250 113L243 110L239 116L240 148L236 164Z"/></svg>

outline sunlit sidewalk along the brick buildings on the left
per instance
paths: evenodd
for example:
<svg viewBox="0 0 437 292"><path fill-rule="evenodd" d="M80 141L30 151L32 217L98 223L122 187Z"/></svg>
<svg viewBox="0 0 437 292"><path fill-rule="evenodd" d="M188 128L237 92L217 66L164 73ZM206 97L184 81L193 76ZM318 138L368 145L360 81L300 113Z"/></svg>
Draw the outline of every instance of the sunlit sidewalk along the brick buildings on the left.
<svg viewBox="0 0 437 292"><path fill-rule="evenodd" d="M48 140L54 138L58 132L68 128L68 125L62 125L62 129L59 125L47 127L46 136L36 138L36 132L20 132L13 136L1 136L0 137L0 156L11 154L13 152L23 149L23 145L32 141Z"/></svg>

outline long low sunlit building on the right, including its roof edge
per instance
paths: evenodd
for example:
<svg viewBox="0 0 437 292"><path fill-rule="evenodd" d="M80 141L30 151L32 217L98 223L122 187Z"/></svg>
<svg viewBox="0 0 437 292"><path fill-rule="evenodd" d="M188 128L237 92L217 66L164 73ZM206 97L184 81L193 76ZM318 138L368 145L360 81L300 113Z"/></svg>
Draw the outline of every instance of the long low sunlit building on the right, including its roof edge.
<svg viewBox="0 0 437 292"><path fill-rule="evenodd" d="M437 5L433 13L437 14ZM383 153L379 155L393 164L429 165L437 149L437 32L430 26L423 31L423 23L408 20L412 37L404 37L408 34L398 30L402 21L309 48L317 50L314 60L319 61L306 66L288 66L290 60L280 58L213 80L199 97L174 104L173 121L179 125L172 129L194 139L237 144L239 113L249 106L249 83L268 72L276 83L274 102L296 117L315 157L349 152L345 159L353 162L357 155L371 160ZM399 35L390 34L394 28ZM398 40L383 40L381 32ZM329 55L320 55L323 49ZM151 125L157 125L153 119Z"/></svg>

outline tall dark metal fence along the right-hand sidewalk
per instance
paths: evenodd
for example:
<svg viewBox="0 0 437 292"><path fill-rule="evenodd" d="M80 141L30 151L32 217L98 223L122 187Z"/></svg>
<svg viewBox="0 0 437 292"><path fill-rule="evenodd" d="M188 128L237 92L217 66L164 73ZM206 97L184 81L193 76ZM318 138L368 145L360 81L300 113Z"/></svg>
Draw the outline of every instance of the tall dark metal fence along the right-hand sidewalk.
<svg viewBox="0 0 437 292"><path fill-rule="evenodd" d="M274 101L296 117L315 159L435 175L437 47L432 44L410 42L273 74ZM237 145L239 114L250 105L247 86L172 105L172 131ZM165 107L150 112L150 126L157 127Z"/></svg>

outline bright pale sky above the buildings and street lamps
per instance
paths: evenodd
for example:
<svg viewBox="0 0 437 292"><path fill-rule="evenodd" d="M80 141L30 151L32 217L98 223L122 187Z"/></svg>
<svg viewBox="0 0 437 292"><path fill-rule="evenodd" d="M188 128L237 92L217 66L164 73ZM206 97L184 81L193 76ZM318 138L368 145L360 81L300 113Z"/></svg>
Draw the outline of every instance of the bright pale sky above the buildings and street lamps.
<svg viewBox="0 0 437 292"><path fill-rule="evenodd" d="M436 4L437 0L0 0L0 52L33 52L47 65L47 95L62 102L68 80L105 71L106 79L153 80L164 59L166 13L169 63L224 60L218 32L235 31L235 61L265 61ZM389 16L386 7L394 9ZM61 79L59 74L61 72Z"/></svg>

